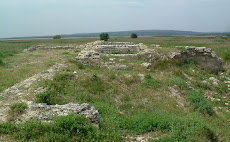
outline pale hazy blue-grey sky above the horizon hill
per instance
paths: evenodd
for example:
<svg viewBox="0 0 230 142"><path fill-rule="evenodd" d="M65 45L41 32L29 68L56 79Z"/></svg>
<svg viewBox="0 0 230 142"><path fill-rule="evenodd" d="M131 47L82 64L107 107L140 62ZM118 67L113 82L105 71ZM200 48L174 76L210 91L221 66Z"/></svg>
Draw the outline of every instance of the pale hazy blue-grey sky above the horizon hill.
<svg viewBox="0 0 230 142"><path fill-rule="evenodd" d="M230 0L0 0L0 38L148 29L230 32Z"/></svg>

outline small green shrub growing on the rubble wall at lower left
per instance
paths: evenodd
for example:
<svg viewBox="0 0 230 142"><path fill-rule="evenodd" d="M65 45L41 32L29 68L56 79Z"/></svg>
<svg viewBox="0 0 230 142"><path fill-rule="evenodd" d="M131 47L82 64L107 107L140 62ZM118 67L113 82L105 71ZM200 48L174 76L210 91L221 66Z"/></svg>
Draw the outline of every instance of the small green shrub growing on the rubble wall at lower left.
<svg viewBox="0 0 230 142"><path fill-rule="evenodd" d="M14 103L10 105L9 114L15 115L15 114L21 114L27 109L28 106L26 103Z"/></svg>

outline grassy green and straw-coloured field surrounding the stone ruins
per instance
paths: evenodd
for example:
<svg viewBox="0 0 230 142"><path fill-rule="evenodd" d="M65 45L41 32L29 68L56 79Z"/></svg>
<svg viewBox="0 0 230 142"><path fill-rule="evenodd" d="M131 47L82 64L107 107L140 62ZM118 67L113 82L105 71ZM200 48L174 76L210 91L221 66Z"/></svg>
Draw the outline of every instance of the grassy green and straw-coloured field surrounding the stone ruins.
<svg viewBox="0 0 230 142"><path fill-rule="evenodd" d="M129 137L151 136L151 141L230 140L230 92L224 83L230 77L230 38L209 37L114 37L110 41L159 44L164 53L175 46L206 46L223 59L223 72L211 74L193 62L159 61L150 69L140 64L143 58L125 59L134 63L126 70L83 67L74 50L37 50L21 53L32 45L84 44L96 40L0 41L0 91L41 72L55 63L68 68L56 73L54 80L39 82L46 92L31 100L48 104L89 103L100 113L99 128L84 118L69 115L53 123L29 121L24 124L1 123L2 141L127 141ZM150 47L153 48L153 47ZM162 51L161 51L162 50ZM107 59L105 59L107 60ZM116 59L119 60L119 59ZM77 71L77 76L73 74ZM224 78L221 77L224 74ZM142 80L139 74L144 75ZM68 77L69 76L69 77ZM215 77L217 86L202 81ZM190 89L193 88L193 90ZM220 101L210 101L205 95ZM43 96L39 99L38 96ZM21 110L22 111L22 110Z"/></svg>

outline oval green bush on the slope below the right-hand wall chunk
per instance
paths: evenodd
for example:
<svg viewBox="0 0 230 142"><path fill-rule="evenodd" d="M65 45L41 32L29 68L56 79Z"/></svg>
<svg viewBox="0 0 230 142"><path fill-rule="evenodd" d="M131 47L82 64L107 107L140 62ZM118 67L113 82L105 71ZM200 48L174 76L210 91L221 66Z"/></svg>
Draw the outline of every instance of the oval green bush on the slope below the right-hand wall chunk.
<svg viewBox="0 0 230 142"><path fill-rule="evenodd" d="M209 115L214 114L212 104L204 98L204 96L196 91L190 91L187 94L187 100L191 103L195 110L202 113L207 112Z"/></svg>

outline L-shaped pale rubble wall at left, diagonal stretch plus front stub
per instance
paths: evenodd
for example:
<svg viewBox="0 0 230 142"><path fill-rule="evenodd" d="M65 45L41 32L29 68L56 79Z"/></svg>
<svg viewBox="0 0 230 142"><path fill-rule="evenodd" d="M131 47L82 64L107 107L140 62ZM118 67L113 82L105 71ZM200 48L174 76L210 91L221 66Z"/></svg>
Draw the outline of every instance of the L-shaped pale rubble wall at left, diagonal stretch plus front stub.
<svg viewBox="0 0 230 142"><path fill-rule="evenodd" d="M52 80L54 74L60 68L66 68L64 64L56 64L47 71L38 73L25 79L14 86L0 93L0 122L6 122L8 118L9 106L17 102L25 102L28 105L26 112L20 116L20 122L25 122L31 118L41 121L49 121L53 116L65 116L68 114L78 114L86 117L92 122L97 122L100 118L98 111L89 104L66 105L47 105L37 104L27 101L27 96L33 93L43 92L44 88L37 88L33 91L32 85L37 81L49 79ZM32 93L33 92L33 93ZM18 121L19 122L19 121Z"/></svg>

